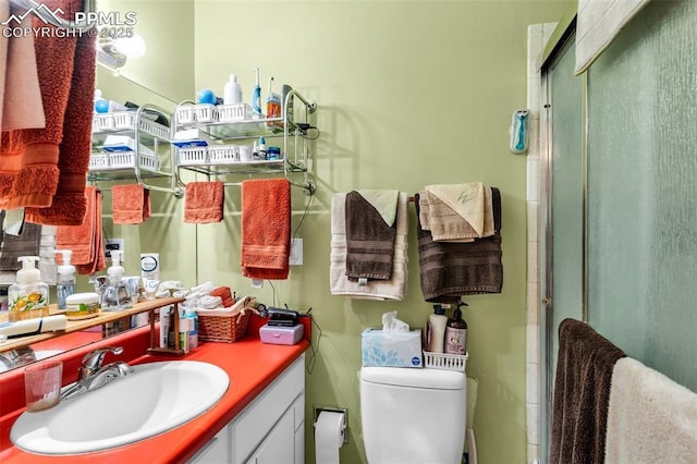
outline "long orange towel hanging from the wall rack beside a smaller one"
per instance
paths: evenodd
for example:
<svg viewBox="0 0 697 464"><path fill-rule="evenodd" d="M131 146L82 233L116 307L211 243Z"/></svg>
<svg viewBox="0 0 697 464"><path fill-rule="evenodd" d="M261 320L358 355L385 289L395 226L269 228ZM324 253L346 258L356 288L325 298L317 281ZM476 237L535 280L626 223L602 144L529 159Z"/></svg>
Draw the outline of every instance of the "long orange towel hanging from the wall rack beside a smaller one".
<svg viewBox="0 0 697 464"><path fill-rule="evenodd" d="M288 179L242 182L242 274L286 279L291 251L291 183Z"/></svg>

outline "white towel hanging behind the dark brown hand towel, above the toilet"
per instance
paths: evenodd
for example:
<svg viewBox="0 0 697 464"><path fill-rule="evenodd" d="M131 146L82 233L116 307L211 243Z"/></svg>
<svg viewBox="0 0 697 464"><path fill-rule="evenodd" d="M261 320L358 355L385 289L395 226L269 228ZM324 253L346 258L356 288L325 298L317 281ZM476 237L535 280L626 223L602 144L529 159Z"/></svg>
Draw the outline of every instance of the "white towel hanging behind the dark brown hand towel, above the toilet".
<svg viewBox="0 0 697 464"><path fill-rule="evenodd" d="M329 280L332 295L376 301L401 301L406 293L407 272L407 235L408 235L408 195L400 192L396 208L396 237L394 241L394 258L392 278L390 280L368 280L359 282L350 280L346 272L346 227L345 193L338 193L331 200L331 252Z"/></svg>

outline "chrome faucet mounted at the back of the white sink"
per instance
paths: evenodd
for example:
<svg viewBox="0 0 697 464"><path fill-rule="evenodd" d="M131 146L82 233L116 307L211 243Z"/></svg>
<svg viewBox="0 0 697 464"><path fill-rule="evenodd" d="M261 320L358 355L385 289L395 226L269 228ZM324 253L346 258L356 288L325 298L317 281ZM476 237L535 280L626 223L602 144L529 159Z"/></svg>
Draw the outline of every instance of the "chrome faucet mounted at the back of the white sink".
<svg viewBox="0 0 697 464"><path fill-rule="evenodd" d="M80 366L77 381L63 388L61 400L98 389L112 380L133 374L133 367L121 361L102 366L101 363L105 361L105 355L109 352L121 354L123 349L121 346L108 346L87 353Z"/></svg>

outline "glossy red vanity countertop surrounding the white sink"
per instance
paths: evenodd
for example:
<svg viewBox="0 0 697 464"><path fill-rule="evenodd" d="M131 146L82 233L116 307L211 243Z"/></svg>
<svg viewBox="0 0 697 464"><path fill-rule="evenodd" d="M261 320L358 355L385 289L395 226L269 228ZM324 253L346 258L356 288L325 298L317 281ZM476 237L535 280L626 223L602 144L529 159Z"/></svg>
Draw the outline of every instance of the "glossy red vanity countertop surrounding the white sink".
<svg viewBox="0 0 697 464"><path fill-rule="evenodd" d="M250 321L252 322L252 321ZM215 364L230 376L230 387L220 401L203 415L166 434L151 437L124 447L107 451L78 455L39 455L15 448L10 441L10 430L17 417L25 411L23 369L14 369L0 375L0 462L5 463L175 463L184 462L206 444L220 429L230 423L247 404L268 387L288 366L297 359L309 346L307 339L295 345L273 345L261 343L258 339L259 323L252 323L248 334L234 343L203 342L196 350L184 356L142 355L130 364L143 364L160 361L191 359ZM82 356L99 345L123 345L126 351L145 353L149 330L136 329L112 339L89 345L84 350L57 356L62 359L63 383L76 380L77 367ZM309 327L306 327L309 329ZM309 332L309 330L307 330ZM83 353L84 351L84 353ZM111 357L124 361L124 356ZM21 387L20 387L21 386ZM89 394L89 393L85 393ZM8 412L8 398L21 395L21 407ZM129 407L129 399L123 399ZM11 403L16 403L11 401ZM15 406L16 407L16 406ZM5 411L2 411L5 410Z"/></svg>

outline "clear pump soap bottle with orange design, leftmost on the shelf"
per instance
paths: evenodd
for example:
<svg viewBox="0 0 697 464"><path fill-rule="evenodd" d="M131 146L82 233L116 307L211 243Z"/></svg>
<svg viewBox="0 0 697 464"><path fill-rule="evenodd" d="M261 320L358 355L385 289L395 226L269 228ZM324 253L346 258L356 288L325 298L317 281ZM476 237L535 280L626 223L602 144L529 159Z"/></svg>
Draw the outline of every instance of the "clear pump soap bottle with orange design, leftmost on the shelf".
<svg viewBox="0 0 697 464"><path fill-rule="evenodd" d="M48 316L48 285L41 282L41 271L36 268L38 256L20 256L22 269L17 281L8 289L8 309L11 322Z"/></svg>

